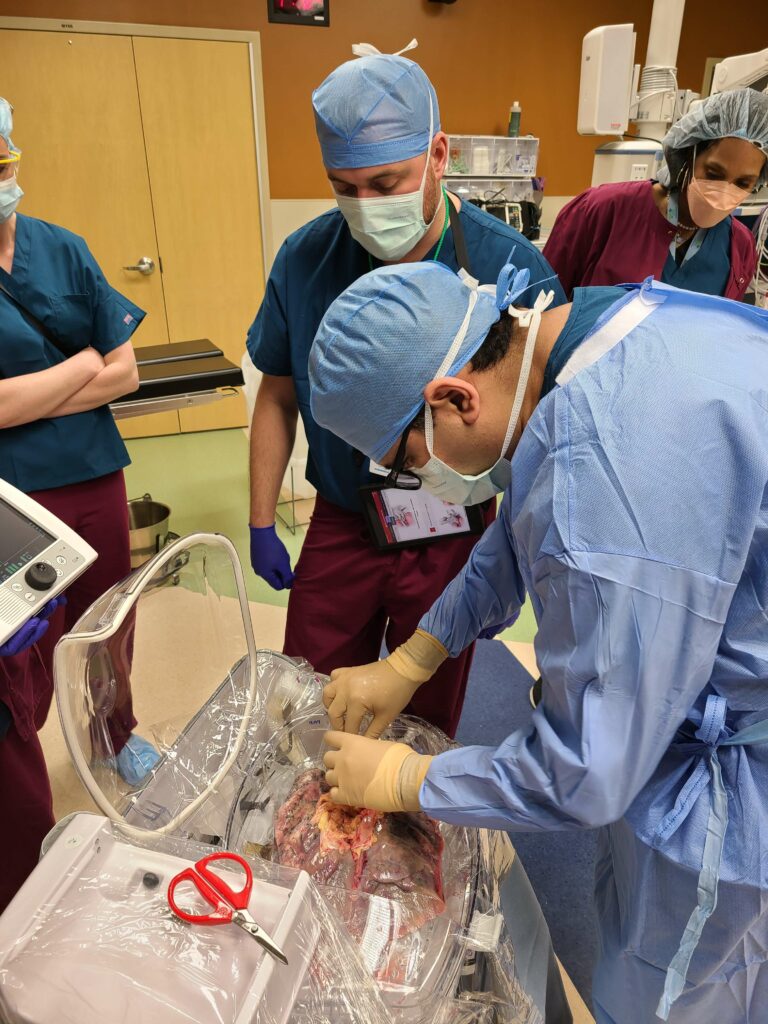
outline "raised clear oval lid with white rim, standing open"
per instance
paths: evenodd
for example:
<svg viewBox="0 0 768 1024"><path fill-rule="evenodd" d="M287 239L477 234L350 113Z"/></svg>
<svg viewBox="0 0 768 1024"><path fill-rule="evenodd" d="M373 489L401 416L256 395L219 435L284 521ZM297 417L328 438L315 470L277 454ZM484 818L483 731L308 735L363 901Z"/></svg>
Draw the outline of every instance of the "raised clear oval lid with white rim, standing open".
<svg viewBox="0 0 768 1024"><path fill-rule="evenodd" d="M263 720L255 670L243 573L225 538L175 542L91 605L57 645L54 676L70 754L99 809L130 818L153 779L172 775L172 799L157 808L144 799L133 818L176 834ZM195 746L200 715L205 742ZM141 744L141 760L131 757L137 740L155 753Z"/></svg>

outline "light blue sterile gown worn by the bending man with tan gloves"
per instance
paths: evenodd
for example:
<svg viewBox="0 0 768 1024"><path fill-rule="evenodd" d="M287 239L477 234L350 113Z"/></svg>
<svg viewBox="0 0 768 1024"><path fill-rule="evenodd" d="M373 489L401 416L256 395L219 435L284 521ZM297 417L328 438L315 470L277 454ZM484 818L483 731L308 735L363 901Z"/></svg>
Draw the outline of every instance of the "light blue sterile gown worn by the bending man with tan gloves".
<svg viewBox="0 0 768 1024"><path fill-rule="evenodd" d="M630 303L647 310L623 333ZM604 826L600 1024L762 1024L768 311L646 283L582 355L421 623L453 655L527 592L542 703L498 749L437 757L421 803L493 828Z"/></svg>

